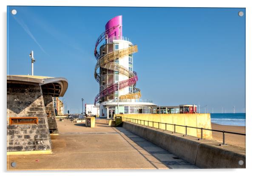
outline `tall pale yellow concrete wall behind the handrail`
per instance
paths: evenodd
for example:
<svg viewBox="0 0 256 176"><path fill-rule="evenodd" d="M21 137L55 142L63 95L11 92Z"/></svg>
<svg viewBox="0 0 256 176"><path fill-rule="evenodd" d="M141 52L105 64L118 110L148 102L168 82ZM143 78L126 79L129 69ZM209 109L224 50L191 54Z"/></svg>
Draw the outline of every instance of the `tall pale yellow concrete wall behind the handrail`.
<svg viewBox="0 0 256 176"><path fill-rule="evenodd" d="M199 128L211 129L210 114L117 114L116 116L121 116L123 121L124 118L133 118L142 120L142 124L145 121L145 125L153 126L158 128L158 123L168 123L184 126L193 126ZM136 121L137 122L137 121ZM138 121L140 123L140 121ZM165 124L159 124L160 129L165 129ZM185 134L185 127L176 126L176 132ZM169 131L174 131L174 125L166 125L166 129ZM187 134L191 136L201 137L201 129L187 128ZM212 132L209 130L203 130L204 138L212 138Z"/></svg>

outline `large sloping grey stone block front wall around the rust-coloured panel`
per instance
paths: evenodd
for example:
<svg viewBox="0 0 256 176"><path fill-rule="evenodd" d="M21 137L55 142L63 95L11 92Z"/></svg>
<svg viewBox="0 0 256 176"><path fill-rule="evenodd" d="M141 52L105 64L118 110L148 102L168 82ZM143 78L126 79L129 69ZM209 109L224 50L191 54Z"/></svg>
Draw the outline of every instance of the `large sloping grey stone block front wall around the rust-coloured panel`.
<svg viewBox="0 0 256 176"><path fill-rule="evenodd" d="M38 117L38 124L12 124L9 117ZM7 151L51 150L40 85L7 83Z"/></svg>

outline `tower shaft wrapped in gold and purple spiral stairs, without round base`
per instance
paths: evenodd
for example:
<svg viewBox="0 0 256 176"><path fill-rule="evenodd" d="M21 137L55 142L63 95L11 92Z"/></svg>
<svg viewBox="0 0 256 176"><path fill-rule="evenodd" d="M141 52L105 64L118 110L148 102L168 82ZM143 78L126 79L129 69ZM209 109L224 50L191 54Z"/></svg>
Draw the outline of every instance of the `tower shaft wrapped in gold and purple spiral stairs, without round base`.
<svg viewBox="0 0 256 176"><path fill-rule="evenodd" d="M94 48L97 59L94 77L100 84L94 104L117 102L118 98L121 102L135 102L141 97L140 90L136 88L137 73L133 71L135 52L138 52L137 45L122 36L122 16L110 19Z"/></svg>

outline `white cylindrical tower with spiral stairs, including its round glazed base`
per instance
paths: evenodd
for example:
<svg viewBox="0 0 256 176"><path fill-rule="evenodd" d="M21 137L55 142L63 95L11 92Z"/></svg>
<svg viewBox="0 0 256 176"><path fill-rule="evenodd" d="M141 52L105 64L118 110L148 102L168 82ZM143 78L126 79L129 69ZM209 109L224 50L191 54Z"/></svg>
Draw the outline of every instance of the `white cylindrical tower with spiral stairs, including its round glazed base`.
<svg viewBox="0 0 256 176"><path fill-rule="evenodd" d="M110 19L94 49L97 59L94 77L100 85L94 104L100 103L100 117L112 118L117 113L152 113L155 104L150 100L142 101L141 91L136 88L135 52L138 52L138 46L122 36L122 16Z"/></svg>

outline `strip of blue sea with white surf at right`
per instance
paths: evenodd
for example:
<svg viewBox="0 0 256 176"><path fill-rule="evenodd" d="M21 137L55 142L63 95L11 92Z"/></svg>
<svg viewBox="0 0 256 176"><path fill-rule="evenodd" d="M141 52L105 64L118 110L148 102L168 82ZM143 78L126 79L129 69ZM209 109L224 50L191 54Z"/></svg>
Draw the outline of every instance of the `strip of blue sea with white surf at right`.
<svg viewBox="0 0 256 176"><path fill-rule="evenodd" d="M215 124L245 126L245 113L211 113L210 118Z"/></svg>

